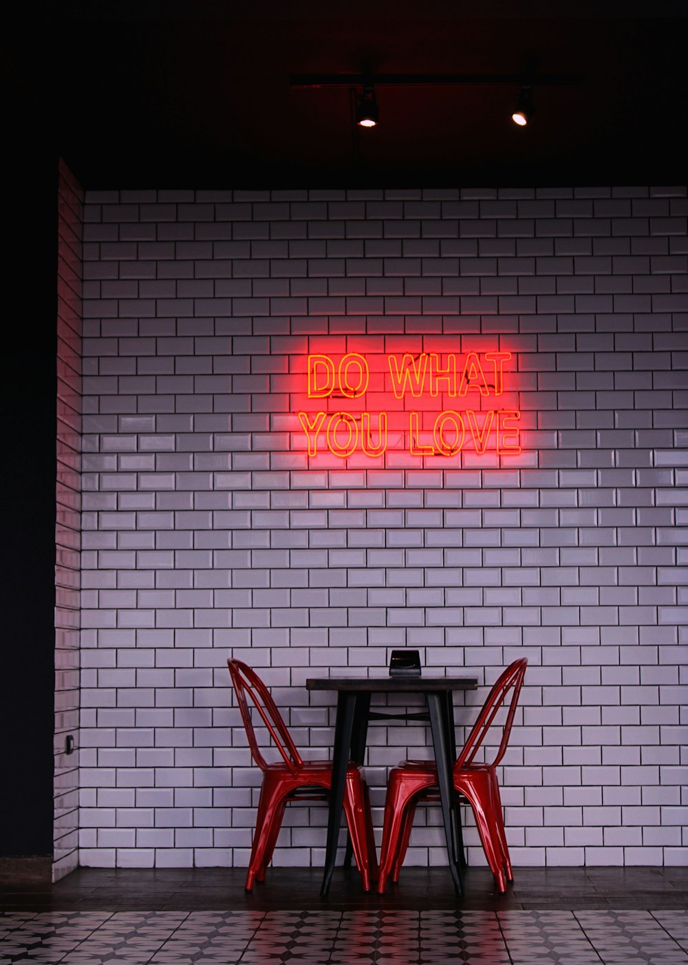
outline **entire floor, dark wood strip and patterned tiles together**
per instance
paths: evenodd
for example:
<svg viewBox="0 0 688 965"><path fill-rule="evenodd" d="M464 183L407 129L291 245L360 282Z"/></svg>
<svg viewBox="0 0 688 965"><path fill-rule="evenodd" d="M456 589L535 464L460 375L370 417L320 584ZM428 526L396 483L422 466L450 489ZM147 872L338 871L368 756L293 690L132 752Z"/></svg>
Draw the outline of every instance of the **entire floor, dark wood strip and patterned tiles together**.
<svg viewBox="0 0 688 965"><path fill-rule="evenodd" d="M0 877L0 965L688 965L688 869L404 869L383 897L338 869L79 869ZM305 910L304 910L305 909Z"/></svg>

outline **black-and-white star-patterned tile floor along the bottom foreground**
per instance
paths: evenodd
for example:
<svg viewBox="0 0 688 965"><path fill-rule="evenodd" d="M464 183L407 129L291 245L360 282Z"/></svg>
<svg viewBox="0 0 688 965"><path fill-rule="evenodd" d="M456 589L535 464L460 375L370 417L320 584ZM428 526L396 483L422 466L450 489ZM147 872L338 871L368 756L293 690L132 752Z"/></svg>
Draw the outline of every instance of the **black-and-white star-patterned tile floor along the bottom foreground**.
<svg viewBox="0 0 688 965"><path fill-rule="evenodd" d="M0 965L688 965L688 911L0 915Z"/></svg>

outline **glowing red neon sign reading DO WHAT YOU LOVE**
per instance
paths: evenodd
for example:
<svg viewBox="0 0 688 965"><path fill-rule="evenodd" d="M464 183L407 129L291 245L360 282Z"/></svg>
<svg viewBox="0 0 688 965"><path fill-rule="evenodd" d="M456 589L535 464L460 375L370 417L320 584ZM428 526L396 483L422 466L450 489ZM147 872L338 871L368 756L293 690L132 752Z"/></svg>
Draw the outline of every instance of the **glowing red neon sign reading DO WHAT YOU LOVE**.
<svg viewBox="0 0 688 965"><path fill-rule="evenodd" d="M518 455L513 367L510 351L314 352L297 412L308 455Z"/></svg>

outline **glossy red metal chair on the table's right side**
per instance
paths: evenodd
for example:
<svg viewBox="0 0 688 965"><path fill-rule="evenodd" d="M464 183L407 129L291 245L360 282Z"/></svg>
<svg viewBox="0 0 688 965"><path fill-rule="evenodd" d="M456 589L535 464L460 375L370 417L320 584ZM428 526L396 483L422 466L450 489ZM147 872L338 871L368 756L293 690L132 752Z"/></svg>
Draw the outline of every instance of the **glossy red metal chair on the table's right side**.
<svg viewBox="0 0 688 965"><path fill-rule="evenodd" d="M509 882L513 881L513 870L495 769L509 745L513 715L516 712L527 665L528 660L525 657L515 660L499 677L490 690L478 720L454 763L454 789L457 795L468 800L473 809L482 849L500 892L507 890L505 879ZM497 754L489 763L476 762L476 755L487 731L503 706L506 714L503 723L500 720L502 738ZM385 800L385 823L382 831L377 883L377 891L380 895L384 894L389 877L393 881L399 881L399 871L411 837L416 806L422 800L438 800L437 768L434 762L406 760L399 764L399 767L394 767L390 772Z"/></svg>

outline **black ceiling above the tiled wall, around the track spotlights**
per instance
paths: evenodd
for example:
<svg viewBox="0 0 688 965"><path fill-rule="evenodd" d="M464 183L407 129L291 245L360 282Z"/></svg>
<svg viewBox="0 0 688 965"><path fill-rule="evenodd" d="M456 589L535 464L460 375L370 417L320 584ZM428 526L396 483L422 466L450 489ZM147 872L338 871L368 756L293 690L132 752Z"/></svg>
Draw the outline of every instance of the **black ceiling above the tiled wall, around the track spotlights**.
<svg viewBox="0 0 688 965"><path fill-rule="evenodd" d="M87 187L681 183L684 0L28 0L5 23L6 130ZM551 15L551 12L556 15ZM294 73L580 74L534 87L347 88Z"/></svg>

